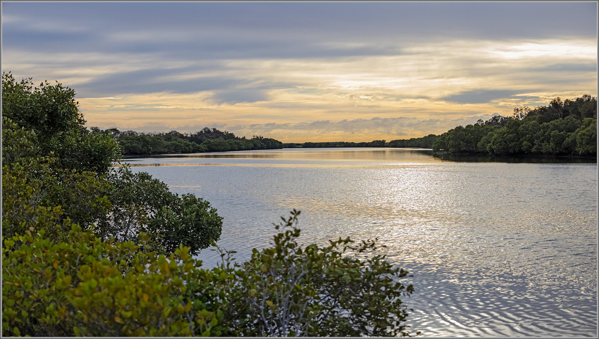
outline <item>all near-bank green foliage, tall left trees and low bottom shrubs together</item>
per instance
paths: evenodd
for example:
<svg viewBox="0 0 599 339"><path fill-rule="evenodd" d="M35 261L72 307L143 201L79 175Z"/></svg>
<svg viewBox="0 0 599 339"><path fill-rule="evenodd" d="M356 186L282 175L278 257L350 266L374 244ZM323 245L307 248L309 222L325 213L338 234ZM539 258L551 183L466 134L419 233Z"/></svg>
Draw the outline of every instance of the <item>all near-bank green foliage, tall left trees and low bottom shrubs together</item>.
<svg viewBox="0 0 599 339"><path fill-rule="evenodd" d="M408 331L401 300L414 288L385 246L349 237L300 246L295 209L271 247L243 262L217 247L222 262L202 267L193 255L220 238L216 208L147 172L112 168L122 146L84 128L74 95L2 74L2 336L420 333Z"/></svg>

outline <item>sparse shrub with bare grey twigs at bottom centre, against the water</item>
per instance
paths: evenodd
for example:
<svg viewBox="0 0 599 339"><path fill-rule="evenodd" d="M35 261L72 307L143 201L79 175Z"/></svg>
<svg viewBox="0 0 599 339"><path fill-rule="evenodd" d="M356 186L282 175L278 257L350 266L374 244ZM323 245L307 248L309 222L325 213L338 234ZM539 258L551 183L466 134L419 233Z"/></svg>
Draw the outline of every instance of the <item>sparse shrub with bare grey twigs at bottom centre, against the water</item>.
<svg viewBox="0 0 599 339"><path fill-rule="evenodd" d="M400 297L413 292L399 282L407 272L376 255L374 241L352 246L350 238L330 246L297 243L299 211L276 226L291 228L273 237L252 259L216 271L234 273L225 284L225 335L407 336L408 315ZM221 252L224 257L231 252ZM369 256L370 255L370 256ZM223 258L224 259L224 258Z"/></svg>

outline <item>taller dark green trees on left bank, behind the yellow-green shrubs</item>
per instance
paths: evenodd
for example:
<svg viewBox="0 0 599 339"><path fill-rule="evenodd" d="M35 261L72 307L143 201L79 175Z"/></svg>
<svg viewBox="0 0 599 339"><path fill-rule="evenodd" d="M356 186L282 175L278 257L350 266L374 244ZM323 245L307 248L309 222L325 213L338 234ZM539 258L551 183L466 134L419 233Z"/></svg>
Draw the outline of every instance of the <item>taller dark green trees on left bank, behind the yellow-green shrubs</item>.
<svg viewBox="0 0 599 339"><path fill-rule="evenodd" d="M222 218L207 201L171 193L147 173L111 168L118 144L84 128L74 95L59 83L35 87L2 74L4 236L23 234L40 208L60 207L60 222L102 240L137 242L145 232L161 253L183 243L195 254L220 238Z"/></svg>

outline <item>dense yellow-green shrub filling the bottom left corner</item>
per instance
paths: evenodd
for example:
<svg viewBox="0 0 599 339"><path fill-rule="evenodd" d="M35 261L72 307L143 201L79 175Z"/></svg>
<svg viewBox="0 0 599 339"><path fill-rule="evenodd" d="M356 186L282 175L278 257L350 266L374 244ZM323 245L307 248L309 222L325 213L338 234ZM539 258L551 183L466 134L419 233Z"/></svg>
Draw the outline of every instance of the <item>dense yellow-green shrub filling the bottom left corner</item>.
<svg viewBox="0 0 599 339"><path fill-rule="evenodd" d="M58 242L33 227L4 240L2 335L220 334L222 311L183 297L186 280L206 280L188 248L165 257L71 227Z"/></svg>

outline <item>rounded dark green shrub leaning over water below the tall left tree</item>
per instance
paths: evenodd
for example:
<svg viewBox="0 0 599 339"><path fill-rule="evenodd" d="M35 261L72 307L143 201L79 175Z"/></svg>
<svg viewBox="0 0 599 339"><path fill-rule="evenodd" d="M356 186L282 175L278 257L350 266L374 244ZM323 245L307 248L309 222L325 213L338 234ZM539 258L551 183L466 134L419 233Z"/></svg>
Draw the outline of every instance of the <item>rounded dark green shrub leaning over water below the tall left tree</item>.
<svg viewBox="0 0 599 339"><path fill-rule="evenodd" d="M204 199L171 193L162 181L128 167L115 168L109 175L111 211L95 225L102 240L135 241L140 232L155 241L155 250L171 253L179 244L196 254L217 241L222 217Z"/></svg>

